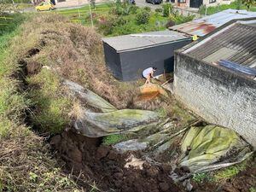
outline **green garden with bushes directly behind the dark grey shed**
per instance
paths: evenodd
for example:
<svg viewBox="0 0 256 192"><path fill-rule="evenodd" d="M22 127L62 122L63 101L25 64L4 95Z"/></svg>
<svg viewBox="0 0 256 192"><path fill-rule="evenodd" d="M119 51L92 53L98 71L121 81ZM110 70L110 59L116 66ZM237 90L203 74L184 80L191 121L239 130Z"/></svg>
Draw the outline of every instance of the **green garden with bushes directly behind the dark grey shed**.
<svg viewBox="0 0 256 192"><path fill-rule="evenodd" d="M173 12L172 5L166 3L164 9L151 11L150 8L139 8L131 3L117 1L116 3L105 3L96 5L93 10L92 20L96 26L97 32L104 36L117 36L137 32L151 32L166 29L166 23L172 20L176 24L192 20L194 17L180 15ZM91 26L89 7L84 6L82 9L72 9L58 11L62 15L68 16L70 20L79 22L85 26Z"/></svg>

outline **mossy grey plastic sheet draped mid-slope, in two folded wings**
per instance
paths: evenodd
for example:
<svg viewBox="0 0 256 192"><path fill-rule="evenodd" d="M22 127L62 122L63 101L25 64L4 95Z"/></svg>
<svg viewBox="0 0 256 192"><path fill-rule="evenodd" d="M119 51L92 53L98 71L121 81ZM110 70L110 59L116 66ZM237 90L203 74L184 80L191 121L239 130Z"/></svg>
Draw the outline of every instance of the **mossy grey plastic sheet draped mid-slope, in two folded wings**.
<svg viewBox="0 0 256 192"><path fill-rule="evenodd" d="M101 96L79 84L68 80L65 80L64 84L67 85L73 96L79 96L88 105L103 112L94 113L86 108L80 109L73 126L84 136L104 137L121 132L134 132L152 127L159 122L159 113L137 109L118 110Z"/></svg>

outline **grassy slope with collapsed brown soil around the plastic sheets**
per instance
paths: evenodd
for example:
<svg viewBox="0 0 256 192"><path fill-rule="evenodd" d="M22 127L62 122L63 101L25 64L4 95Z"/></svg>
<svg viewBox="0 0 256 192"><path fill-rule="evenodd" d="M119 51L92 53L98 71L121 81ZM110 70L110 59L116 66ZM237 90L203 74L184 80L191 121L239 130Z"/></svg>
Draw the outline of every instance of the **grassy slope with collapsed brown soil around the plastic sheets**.
<svg viewBox="0 0 256 192"><path fill-rule="evenodd" d="M35 23L40 25L35 27ZM166 102L159 98L135 103L132 98L137 96L137 87L143 82L128 84L113 79L104 66L100 37L90 28L71 24L59 15L40 15L28 18L10 36L12 40L2 47L4 62L0 70L3 148L0 189L185 189L169 177L171 166L147 163L143 170L124 168L131 153L117 154L108 145L134 136L110 136L102 141L74 133L70 122L76 109L84 103L67 96L61 81L73 80L117 108L160 110L175 122L173 132L195 119L192 115L174 100ZM58 153L49 152L45 137ZM143 158L141 153L133 155ZM165 156L162 158L166 160ZM195 175L193 183L195 191L253 191L255 159L221 172Z"/></svg>

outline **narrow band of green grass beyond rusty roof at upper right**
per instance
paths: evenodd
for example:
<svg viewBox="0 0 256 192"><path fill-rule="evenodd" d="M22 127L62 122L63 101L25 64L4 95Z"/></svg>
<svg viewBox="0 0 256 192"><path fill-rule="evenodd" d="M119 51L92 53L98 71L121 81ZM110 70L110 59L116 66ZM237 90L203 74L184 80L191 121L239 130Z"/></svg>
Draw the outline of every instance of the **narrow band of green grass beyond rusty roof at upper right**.
<svg viewBox="0 0 256 192"><path fill-rule="evenodd" d="M216 14L220 11L226 10L226 9L247 9L245 5L241 4L241 7L239 8L239 5L237 2L232 2L230 4L222 4L222 5L218 5L218 6L212 6L212 7L208 7L207 8L207 15L212 15L212 14ZM256 7L251 7L249 9L249 11L253 11L256 12ZM206 8L202 7L199 10L201 15L205 15L206 13Z"/></svg>

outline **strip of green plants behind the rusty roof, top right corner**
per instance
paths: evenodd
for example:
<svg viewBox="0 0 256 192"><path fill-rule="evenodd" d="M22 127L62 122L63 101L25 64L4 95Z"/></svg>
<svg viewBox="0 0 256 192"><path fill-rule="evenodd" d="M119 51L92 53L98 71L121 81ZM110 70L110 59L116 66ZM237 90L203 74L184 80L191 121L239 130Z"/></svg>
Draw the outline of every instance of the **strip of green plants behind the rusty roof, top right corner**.
<svg viewBox="0 0 256 192"><path fill-rule="evenodd" d="M254 7L253 7L254 6ZM216 14L220 11L226 10L226 9L247 9L247 5L242 3L241 0L236 0L235 2L232 2L230 4L221 4L218 6L212 6L206 8L206 6L201 6L199 9L199 13L201 15L212 15ZM255 5L251 5L248 11L256 11Z"/></svg>

